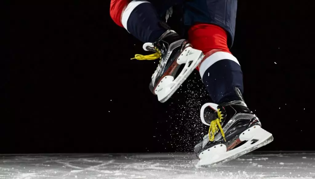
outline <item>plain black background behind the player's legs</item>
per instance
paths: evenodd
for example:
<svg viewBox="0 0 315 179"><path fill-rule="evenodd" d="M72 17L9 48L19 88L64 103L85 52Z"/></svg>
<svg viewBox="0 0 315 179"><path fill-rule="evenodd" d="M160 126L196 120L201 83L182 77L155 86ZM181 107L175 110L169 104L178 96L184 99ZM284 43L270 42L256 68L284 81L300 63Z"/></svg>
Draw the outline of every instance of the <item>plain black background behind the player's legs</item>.
<svg viewBox="0 0 315 179"><path fill-rule="evenodd" d="M148 89L158 61L117 26L109 1L11 3L0 153L187 152L211 102L195 71L166 103ZM244 99L274 135L260 150L313 147L312 2L239 1L231 52Z"/></svg>

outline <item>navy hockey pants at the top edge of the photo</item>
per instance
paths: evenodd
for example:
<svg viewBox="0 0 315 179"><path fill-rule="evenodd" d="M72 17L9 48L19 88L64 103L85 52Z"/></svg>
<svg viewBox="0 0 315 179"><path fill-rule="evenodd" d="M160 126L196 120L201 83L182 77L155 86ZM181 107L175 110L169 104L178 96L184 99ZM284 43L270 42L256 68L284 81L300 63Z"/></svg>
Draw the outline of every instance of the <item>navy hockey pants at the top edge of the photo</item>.
<svg viewBox="0 0 315 179"><path fill-rule="evenodd" d="M147 0L163 19L173 5L181 5L183 24L208 23L222 27L228 34L228 47L232 47L235 34L237 0Z"/></svg>

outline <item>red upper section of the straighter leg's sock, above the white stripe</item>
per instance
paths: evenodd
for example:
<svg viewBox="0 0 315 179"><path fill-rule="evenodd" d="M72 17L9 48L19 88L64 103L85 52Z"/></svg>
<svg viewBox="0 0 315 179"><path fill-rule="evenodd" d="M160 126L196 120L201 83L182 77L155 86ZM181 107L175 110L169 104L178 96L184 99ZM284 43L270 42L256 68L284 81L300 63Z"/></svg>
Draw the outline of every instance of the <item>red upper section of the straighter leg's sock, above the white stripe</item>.
<svg viewBox="0 0 315 179"><path fill-rule="evenodd" d="M227 47L226 31L218 25L196 23L188 31L188 40L193 48L205 54L204 59L218 51L231 53Z"/></svg>

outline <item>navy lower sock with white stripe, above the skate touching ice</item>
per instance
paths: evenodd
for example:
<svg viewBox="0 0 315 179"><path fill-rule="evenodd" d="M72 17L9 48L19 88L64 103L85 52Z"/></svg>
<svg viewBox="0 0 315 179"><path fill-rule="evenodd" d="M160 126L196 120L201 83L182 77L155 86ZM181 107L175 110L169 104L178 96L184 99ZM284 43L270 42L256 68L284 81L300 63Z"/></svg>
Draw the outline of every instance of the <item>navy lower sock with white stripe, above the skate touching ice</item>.
<svg viewBox="0 0 315 179"><path fill-rule="evenodd" d="M241 66L231 53L213 53L202 62L199 72L214 103L239 100L235 87L243 94Z"/></svg>

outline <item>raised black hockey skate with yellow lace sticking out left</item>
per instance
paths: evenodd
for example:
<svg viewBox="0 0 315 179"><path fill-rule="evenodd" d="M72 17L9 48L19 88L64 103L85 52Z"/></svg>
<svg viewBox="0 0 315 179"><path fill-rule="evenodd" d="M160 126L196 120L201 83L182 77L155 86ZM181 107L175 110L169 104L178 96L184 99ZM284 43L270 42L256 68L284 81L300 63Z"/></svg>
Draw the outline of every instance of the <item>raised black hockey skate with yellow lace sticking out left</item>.
<svg viewBox="0 0 315 179"><path fill-rule="evenodd" d="M145 43L143 49L156 53L136 54L134 59L160 59L149 88L161 103L166 102L174 94L203 58L202 51L192 48L187 40L172 30L166 31L154 43ZM181 65L184 67L179 72Z"/></svg>

